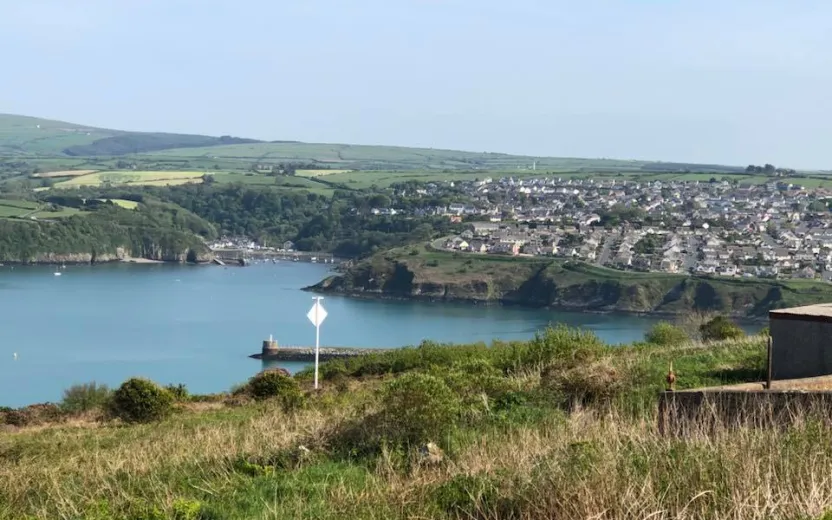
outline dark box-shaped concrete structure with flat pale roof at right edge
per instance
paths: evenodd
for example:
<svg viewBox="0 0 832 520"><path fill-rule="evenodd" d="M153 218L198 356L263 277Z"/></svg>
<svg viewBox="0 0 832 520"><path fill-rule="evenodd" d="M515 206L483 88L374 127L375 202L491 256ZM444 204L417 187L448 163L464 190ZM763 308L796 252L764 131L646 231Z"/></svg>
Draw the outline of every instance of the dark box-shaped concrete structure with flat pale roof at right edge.
<svg viewBox="0 0 832 520"><path fill-rule="evenodd" d="M832 304L769 312L772 380L832 374Z"/></svg>

